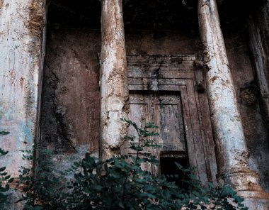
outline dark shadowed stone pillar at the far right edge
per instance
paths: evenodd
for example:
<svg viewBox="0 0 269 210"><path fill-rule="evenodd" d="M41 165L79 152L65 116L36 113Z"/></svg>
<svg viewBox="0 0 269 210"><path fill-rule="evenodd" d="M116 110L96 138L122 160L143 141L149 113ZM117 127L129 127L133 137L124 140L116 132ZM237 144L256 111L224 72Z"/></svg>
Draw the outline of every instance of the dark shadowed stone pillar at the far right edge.
<svg viewBox="0 0 269 210"><path fill-rule="evenodd" d="M257 89L261 97L258 106L261 114L255 121L256 131L259 131L259 135L256 136L258 143L254 143L253 140L253 148L256 148L256 150L255 152L253 150L253 153L250 153L250 155L252 157L255 154L257 155L258 158L251 158L251 160L258 166L263 186L265 186L265 189L269 192L269 4L268 1L261 2L263 3L258 4L258 9L253 10L247 23L248 45L251 52L253 69L255 70ZM251 121L254 121L254 119ZM265 125L267 129L266 131L262 130L264 128L263 125Z"/></svg>

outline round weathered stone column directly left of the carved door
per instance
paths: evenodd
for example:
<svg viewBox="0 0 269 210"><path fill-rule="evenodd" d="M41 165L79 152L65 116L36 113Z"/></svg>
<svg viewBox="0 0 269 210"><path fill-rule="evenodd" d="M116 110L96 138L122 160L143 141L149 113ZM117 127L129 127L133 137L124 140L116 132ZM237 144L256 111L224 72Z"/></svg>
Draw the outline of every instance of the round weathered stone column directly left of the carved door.
<svg viewBox="0 0 269 210"><path fill-rule="evenodd" d="M102 1L101 157L118 155L129 109L122 0Z"/></svg>

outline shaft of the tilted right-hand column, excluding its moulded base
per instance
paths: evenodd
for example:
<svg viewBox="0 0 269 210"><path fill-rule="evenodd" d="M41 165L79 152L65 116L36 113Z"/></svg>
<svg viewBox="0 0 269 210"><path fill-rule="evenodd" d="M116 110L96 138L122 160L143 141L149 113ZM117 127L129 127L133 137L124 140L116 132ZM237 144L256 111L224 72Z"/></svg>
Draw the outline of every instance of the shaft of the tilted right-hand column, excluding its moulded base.
<svg viewBox="0 0 269 210"><path fill-rule="evenodd" d="M246 167L246 160L241 161L236 157L240 153L247 153L247 150L215 1L199 1L198 13L208 68L210 111L221 162L219 170L223 172L234 166ZM230 143L232 140L236 142L236 148ZM246 158L246 155L242 157Z"/></svg>

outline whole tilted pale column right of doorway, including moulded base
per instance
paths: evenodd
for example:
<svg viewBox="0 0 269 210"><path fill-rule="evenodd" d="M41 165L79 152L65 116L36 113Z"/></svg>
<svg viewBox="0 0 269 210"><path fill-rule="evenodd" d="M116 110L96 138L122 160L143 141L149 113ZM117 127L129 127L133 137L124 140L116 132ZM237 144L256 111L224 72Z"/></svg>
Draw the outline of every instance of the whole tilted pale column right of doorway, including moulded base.
<svg viewBox="0 0 269 210"><path fill-rule="evenodd" d="M198 16L208 70L207 93L217 146L219 182L231 184L243 197L268 197L258 184L258 173L248 166L248 150L216 1L199 0Z"/></svg>

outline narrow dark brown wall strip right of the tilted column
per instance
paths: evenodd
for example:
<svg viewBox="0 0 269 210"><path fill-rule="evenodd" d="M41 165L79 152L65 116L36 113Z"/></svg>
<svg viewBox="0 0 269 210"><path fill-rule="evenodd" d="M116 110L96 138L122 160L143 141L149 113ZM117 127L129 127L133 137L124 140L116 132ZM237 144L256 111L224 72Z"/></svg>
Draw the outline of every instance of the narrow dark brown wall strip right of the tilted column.
<svg viewBox="0 0 269 210"><path fill-rule="evenodd" d="M231 35L227 34L228 30L224 29L225 45L248 147L249 167L259 173L262 186L268 190L268 131L263 118L255 69L251 66L244 31Z"/></svg>

